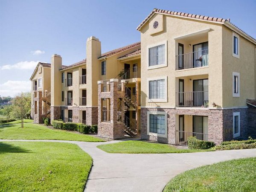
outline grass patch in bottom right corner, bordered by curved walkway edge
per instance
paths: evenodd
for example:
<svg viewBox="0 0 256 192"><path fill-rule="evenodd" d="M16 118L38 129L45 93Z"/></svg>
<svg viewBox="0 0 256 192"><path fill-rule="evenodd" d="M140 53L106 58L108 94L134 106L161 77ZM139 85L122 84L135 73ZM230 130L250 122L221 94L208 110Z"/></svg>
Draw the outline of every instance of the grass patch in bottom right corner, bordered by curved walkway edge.
<svg viewBox="0 0 256 192"><path fill-rule="evenodd" d="M256 158L230 160L202 166L177 175L164 192L256 191Z"/></svg>

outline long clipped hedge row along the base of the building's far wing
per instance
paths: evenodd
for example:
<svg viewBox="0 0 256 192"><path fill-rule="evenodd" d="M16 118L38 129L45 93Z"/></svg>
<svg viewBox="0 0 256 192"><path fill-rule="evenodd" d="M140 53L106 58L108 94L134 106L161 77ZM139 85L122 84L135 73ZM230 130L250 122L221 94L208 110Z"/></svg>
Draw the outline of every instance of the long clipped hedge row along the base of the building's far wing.
<svg viewBox="0 0 256 192"><path fill-rule="evenodd" d="M84 125L81 123L67 122L64 123L62 120L53 120L52 126L55 129L63 129L68 131L79 131L82 134L98 133L98 125Z"/></svg>

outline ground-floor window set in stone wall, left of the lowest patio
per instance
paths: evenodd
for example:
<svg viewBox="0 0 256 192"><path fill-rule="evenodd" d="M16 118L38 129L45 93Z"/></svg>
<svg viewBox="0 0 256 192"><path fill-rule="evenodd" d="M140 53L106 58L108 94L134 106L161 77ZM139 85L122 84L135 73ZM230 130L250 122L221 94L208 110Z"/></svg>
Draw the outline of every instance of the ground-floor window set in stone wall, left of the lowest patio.
<svg viewBox="0 0 256 192"><path fill-rule="evenodd" d="M149 115L149 131L152 133L165 134L165 115Z"/></svg>

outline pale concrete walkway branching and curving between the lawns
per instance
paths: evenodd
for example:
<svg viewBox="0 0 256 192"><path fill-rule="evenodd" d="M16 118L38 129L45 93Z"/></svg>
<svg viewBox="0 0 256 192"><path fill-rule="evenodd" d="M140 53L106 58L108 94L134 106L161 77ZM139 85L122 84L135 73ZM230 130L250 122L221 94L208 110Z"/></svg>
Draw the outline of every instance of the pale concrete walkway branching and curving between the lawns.
<svg viewBox="0 0 256 192"><path fill-rule="evenodd" d="M77 144L93 158L85 192L161 192L177 174L207 164L244 157L256 157L256 149L209 151L180 154L109 154L96 148L102 143L64 140L46 141Z"/></svg>

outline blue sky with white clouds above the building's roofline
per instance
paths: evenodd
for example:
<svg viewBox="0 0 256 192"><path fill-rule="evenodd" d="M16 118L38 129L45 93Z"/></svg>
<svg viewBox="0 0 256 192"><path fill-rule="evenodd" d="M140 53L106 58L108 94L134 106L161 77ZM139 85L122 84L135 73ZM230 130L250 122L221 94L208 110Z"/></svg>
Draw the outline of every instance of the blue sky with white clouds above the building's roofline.
<svg viewBox="0 0 256 192"><path fill-rule="evenodd" d="M256 0L0 0L0 95L29 91L37 62L54 53L81 61L91 35L102 52L140 41L136 28L154 8L230 18L256 38Z"/></svg>

